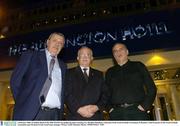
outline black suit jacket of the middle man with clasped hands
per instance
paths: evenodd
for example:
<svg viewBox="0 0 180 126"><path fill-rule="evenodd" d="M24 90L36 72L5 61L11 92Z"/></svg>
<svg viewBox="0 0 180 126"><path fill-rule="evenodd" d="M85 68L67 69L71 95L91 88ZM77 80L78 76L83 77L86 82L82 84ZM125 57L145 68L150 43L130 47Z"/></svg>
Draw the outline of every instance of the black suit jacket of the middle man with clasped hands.
<svg viewBox="0 0 180 126"><path fill-rule="evenodd" d="M66 104L69 109L68 119L102 119L102 114L100 114L99 111L96 112L92 118L83 118L77 113L77 110L79 107L84 105L97 105L100 110L103 110L107 101L103 73L90 68L89 81L87 83L81 68L78 66L68 70L65 80Z"/></svg>

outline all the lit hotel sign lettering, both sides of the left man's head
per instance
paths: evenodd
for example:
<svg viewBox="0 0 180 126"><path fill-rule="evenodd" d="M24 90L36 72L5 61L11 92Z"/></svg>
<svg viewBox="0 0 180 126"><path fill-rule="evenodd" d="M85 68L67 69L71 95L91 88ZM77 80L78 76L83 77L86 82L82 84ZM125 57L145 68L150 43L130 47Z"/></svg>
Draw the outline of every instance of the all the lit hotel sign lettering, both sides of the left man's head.
<svg viewBox="0 0 180 126"><path fill-rule="evenodd" d="M170 34L167 25L163 22L152 23L147 25L138 25L136 27L125 27L114 31L95 31L83 34L73 34L72 37L66 38L65 47L85 46L94 43L108 43L113 41L126 41L128 39L141 39L143 37L154 37L158 35ZM39 40L31 43L14 44L9 47L9 56L21 54L27 50L44 49L45 44Z"/></svg>

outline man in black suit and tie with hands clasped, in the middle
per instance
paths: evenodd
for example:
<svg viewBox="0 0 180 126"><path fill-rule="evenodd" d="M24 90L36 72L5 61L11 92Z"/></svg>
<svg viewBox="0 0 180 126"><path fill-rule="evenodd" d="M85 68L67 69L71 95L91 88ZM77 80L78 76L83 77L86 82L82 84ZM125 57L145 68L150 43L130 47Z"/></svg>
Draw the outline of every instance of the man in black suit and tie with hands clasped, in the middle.
<svg viewBox="0 0 180 126"><path fill-rule="evenodd" d="M69 120L100 120L106 104L103 73L90 67L92 50L78 50L79 65L69 69L66 76L66 104Z"/></svg>

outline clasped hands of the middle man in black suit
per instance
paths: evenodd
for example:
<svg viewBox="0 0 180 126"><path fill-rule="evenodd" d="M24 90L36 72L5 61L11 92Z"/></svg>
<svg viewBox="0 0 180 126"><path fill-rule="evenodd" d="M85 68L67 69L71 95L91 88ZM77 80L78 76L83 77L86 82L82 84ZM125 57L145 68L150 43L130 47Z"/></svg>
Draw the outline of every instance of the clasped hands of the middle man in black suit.
<svg viewBox="0 0 180 126"><path fill-rule="evenodd" d="M85 105L77 110L82 117L90 118L99 110L97 105Z"/></svg>

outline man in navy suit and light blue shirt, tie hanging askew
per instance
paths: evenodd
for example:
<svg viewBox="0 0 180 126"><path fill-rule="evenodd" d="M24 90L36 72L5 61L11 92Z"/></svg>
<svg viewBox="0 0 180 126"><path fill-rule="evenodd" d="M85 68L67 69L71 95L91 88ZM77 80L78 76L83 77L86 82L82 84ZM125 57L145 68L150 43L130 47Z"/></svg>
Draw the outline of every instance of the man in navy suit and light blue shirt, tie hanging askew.
<svg viewBox="0 0 180 126"><path fill-rule="evenodd" d="M45 50L25 52L21 55L10 81L15 100L14 120L62 118L66 65L57 58L57 55L64 43L63 34L52 33L47 40ZM49 66L52 66L52 70ZM50 73L51 76L49 76ZM42 101L40 93L43 94L42 89L46 80L50 80L50 83L47 83L50 85Z"/></svg>

